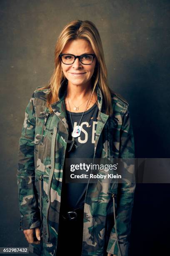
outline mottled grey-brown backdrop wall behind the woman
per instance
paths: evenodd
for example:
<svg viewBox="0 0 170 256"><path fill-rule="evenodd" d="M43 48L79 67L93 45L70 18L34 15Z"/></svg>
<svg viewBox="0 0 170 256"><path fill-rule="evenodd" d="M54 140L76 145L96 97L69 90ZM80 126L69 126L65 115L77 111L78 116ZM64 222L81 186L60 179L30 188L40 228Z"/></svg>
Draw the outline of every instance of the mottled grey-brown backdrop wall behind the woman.
<svg viewBox="0 0 170 256"><path fill-rule="evenodd" d="M18 140L25 107L35 88L49 81L57 36L69 21L91 20L100 32L110 87L130 104L136 157L170 157L169 11L168 0L0 1L0 246L27 245L18 231ZM166 248L158 237L166 237L170 187L155 186L137 187L131 256L153 255L155 241Z"/></svg>

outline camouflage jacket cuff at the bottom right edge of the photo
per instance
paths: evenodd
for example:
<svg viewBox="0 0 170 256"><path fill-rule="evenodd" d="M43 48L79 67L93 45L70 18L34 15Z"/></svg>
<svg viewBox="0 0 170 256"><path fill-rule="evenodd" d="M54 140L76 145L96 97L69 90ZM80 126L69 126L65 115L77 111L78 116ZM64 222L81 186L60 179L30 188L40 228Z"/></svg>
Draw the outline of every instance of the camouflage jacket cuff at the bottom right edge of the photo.
<svg viewBox="0 0 170 256"><path fill-rule="evenodd" d="M129 245L130 243L128 241L122 241L122 239L119 240L119 247L121 251L120 254L119 248L117 246L117 240L109 239L107 245L107 253L115 254L118 256L129 256Z"/></svg>

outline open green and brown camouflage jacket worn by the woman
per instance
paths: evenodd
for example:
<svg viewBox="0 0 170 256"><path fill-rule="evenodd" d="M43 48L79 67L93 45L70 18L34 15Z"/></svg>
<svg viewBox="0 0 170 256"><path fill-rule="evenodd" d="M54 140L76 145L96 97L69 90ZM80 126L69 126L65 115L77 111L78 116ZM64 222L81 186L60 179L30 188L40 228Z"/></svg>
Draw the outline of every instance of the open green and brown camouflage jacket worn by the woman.
<svg viewBox="0 0 170 256"><path fill-rule="evenodd" d="M63 81L60 100L51 105L53 113L46 107L45 95L48 89L34 91L25 110L19 140L19 230L40 227L41 243L29 245L30 251L37 255L55 255L57 248L62 171L68 140L65 91ZM94 159L134 158L128 102L112 93L112 116L104 113L102 102L102 93L97 86L99 114ZM132 166L126 168L129 173L133 172ZM129 255L134 191L135 182L131 180L122 184L88 183L84 204L82 256L105 256L107 253Z"/></svg>

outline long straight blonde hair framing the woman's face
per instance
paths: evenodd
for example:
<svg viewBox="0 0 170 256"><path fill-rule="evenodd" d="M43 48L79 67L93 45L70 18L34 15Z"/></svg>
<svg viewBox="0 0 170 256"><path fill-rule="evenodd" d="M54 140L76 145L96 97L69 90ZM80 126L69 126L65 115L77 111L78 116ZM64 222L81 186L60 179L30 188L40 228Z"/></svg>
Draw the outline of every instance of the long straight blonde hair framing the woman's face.
<svg viewBox="0 0 170 256"><path fill-rule="evenodd" d="M47 107L50 109L50 112L52 112L50 104L59 100L60 85L63 79L65 79L65 75L62 72L59 55L68 41L76 39L85 39L92 46L97 58L95 71L92 75L92 82L94 84L92 93L95 91L95 87L97 85L102 92L103 100L105 102L105 113L107 115L112 115L112 90L107 84L107 69L102 42L95 24L89 20L73 20L63 28L55 46L55 69L52 77L50 78L50 82L49 84L40 87L38 90L50 89L49 93L47 94Z"/></svg>

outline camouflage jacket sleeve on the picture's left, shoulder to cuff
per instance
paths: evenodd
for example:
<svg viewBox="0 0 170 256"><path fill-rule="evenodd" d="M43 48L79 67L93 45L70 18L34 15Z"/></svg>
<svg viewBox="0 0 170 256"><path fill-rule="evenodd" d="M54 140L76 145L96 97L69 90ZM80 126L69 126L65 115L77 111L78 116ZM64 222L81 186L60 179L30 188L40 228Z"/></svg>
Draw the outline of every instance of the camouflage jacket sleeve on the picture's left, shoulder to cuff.
<svg viewBox="0 0 170 256"><path fill-rule="evenodd" d="M17 183L19 193L19 230L40 226L40 213L35 192L34 136L35 92L25 110L25 120L18 145Z"/></svg>

